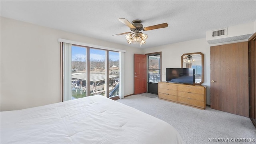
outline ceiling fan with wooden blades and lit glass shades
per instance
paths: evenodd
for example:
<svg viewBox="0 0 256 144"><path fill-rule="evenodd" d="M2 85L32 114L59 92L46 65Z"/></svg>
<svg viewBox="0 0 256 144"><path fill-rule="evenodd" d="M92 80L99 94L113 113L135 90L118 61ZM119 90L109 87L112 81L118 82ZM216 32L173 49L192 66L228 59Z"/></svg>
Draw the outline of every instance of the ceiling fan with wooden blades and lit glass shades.
<svg viewBox="0 0 256 144"><path fill-rule="evenodd" d="M125 38L128 44L131 44L131 43L140 44L140 45L146 44L146 39L148 38L148 35L140 32L141 30L143 31L154 30L158 28L166 28L168 26L167 23L163 23L163 24L157 24L154 26L143 27L143 25L141 24L141 20L133 20L132 23L130 23L125 18L119 18L118 20L123 24L125 24L126 26L128 26L131 32L124 32L121 34L115 34L113 36L127 34Z"/></svg>

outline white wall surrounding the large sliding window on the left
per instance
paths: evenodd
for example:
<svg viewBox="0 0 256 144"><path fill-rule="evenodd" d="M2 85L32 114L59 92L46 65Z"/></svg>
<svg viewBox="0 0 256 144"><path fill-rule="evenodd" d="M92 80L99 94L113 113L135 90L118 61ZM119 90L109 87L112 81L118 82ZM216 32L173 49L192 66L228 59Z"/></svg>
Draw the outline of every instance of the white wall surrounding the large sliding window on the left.
<svg viewBox="0 0 256 144"><path fill-rule="evenodd" d="M126 50L124 95L134 93L132 48L1 17L1 111L60 102L58 38Z"/></svg>

